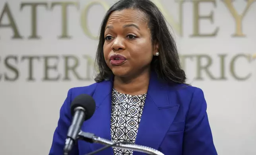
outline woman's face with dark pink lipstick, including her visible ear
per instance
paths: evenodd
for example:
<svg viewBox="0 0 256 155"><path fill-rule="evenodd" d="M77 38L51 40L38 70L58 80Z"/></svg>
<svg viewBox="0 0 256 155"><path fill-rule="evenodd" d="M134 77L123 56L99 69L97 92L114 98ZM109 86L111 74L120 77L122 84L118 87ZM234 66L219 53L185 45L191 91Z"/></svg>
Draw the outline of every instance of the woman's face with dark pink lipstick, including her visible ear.
<svg viewBox="0 0 256 155"><path fill-rule="evenodd" d="M152 45L145 14L136 9L114 11L105 27L104 57L115 76L148 70L158 45Z"/></svg>

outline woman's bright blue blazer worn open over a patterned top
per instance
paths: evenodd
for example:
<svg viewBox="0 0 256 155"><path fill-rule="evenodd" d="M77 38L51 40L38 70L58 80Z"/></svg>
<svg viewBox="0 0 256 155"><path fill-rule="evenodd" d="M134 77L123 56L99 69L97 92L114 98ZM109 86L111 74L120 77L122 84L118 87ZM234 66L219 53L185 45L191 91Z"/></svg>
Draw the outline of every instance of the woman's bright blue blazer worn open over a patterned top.
<svg viewBox="0 0 256 155"><path fill-rule="evenodd" d="M81 130L111 140L112 85L112 80L109 80L68 91L49 155L63 155L72 121L70 103L80 94L91 95L96 102L94 115L83 123ZM184 84L170 86L152 74L135 143L152 147L165 155L217 155L203 91ZM100 144L78 141L70 155L85 155L101 147ZM105 149L97 155L113 155L113 149ZM145 153L134 151L133 155Z"/></svg>

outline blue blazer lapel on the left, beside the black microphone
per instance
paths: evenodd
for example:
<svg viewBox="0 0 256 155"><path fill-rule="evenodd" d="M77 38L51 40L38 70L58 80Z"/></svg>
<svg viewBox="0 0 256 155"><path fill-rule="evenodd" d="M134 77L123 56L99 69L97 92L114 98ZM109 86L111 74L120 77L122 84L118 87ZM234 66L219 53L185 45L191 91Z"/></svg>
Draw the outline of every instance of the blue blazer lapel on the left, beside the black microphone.
<svg viewBox="0 0 256 155"><path fill-rule="evenodd" d="M97 88L93 94L96 110L93 116L83 124L84 132L90 132L101 138L111 140L111 93L112 80L97 83ZM91 144L90 147L92 151L95 151L103 147L103 145ZM114 153L113 149L109 147L100 151L99 154L113 155Z"/></svg>

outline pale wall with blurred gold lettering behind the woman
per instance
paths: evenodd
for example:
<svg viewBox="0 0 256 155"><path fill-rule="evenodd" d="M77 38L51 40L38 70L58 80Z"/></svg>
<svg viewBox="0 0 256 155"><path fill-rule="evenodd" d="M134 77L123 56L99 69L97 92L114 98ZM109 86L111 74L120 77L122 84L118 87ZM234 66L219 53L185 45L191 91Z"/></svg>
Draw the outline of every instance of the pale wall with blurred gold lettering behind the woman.
<svg viewBox="0 0 256 155"><path fill-rule="evenodd" d="M152 0L188 83L208 103L219 155L256 155L256 0ZM68 89L94 83L116 0L0 1L0 154L47 155Z"/></svg>

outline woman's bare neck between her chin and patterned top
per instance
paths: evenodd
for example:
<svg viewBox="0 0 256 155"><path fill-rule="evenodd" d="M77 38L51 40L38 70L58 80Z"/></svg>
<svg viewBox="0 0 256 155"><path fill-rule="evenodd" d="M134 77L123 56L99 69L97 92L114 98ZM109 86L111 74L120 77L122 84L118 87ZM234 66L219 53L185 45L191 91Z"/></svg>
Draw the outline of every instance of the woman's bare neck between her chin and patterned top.
<svg viewBox="0 0 256 155"><path fill-rule="evenodd" d="M114 89L129 95L142 95L147 93L150 72L142 72L135 77L114 77Z"/></svg>

